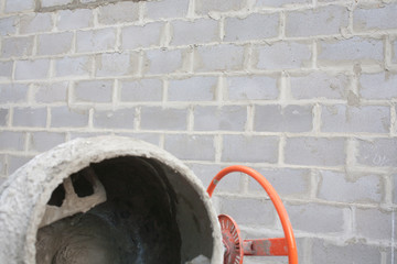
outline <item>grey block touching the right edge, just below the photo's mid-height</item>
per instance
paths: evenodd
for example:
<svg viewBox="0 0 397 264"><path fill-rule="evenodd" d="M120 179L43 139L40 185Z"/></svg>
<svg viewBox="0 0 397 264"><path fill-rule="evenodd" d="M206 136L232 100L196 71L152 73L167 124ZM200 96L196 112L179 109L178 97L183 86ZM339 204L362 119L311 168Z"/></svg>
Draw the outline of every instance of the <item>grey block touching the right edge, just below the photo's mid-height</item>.
<svg viewBox="0 0 397 264"><path fill-rule="evenodd" d="M396 167L397 139L360 140L357 162L372 167Z"/></svg>

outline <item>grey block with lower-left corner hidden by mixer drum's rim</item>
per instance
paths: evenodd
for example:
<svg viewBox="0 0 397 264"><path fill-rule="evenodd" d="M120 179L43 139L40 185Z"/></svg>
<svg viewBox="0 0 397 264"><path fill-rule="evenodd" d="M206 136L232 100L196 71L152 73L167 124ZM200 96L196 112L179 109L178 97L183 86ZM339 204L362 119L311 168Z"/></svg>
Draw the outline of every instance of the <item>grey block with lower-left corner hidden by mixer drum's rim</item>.
<svg viewBox="0 0 397 264"><path fill-rule="evenodd" d="M215 160L214 136L212 135L165 135L164 148L181 160Z"/></svg>

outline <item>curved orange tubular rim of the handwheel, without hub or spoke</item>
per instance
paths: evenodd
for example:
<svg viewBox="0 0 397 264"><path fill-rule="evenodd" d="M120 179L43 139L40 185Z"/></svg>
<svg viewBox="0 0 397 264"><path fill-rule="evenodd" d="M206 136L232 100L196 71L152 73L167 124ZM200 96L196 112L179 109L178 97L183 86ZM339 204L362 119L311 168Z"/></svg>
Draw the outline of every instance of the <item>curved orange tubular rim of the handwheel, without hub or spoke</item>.
<svg viewBox="0 0 397 264"><path fill-rule="evenodd" d="M281 201L280 197L278 196L277 191L275 190L275 188L270 185L270 183L261 174L259 174L257 170L255 170L250 167L246 167L246 166L242 166L242 165L233 165L233 166L226 167L226 168L222 169L211 182L211 184L207 188L207 193L208 193L210 197L212 197L214 189L215 189L216 185L219 183L219 180L227 174L235 173L235 172L245 173L245 174L249 175L250 177L256 179L260 184L260 186L266 190L266 193L270 197L270 200L272 201L272 204L276 208L276 211L280 218L282 230L286 235L287 248L288 248L288 263L289 264L298 264L297 244L296 244L291 222L289 220L287 210L283 207L282 201Z"/></svg>

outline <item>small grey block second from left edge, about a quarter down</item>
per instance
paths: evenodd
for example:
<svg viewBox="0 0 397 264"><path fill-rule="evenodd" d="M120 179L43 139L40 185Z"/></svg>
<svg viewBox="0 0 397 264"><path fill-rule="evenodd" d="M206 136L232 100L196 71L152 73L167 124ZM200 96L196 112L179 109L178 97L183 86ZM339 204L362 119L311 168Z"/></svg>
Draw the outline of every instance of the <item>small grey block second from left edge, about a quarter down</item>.
<svg viewBox="0 0 397 264"><path fill-rule="evenodd" d="M15 79L47 78L50 59L17 61Z"/></svg>

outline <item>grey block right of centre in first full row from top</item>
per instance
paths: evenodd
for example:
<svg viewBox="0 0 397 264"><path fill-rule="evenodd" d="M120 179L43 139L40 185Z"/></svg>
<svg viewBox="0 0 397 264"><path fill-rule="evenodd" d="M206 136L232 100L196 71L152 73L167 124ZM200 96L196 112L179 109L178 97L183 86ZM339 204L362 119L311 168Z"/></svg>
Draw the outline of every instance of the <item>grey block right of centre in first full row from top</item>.
<svg viewBox="0 0 397 264"><path fill-rule="evenodd" d="M225 20L225 41L251 41L276 37L279 34L279 13L254 13L247 18Z"/></svg>

